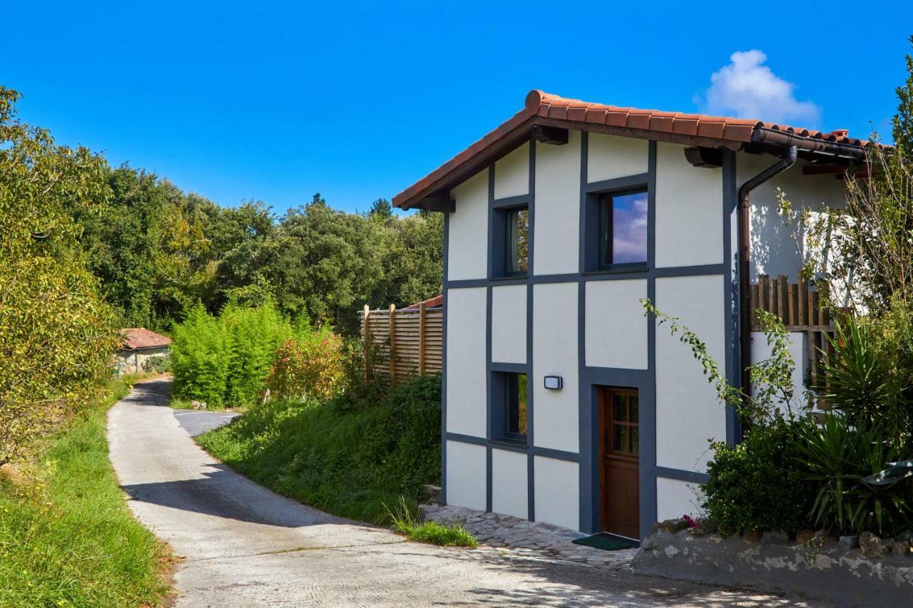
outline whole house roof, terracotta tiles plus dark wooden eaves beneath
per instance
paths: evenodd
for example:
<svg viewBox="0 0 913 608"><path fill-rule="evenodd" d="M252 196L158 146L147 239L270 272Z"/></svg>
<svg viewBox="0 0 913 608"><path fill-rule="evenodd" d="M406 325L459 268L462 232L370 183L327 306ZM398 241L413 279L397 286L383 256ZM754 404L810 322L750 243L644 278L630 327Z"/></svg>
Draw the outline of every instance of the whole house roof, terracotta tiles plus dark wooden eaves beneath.
<svg viewBox="0 0 913 608"><path fill-rule="evenodd" d="M798 154L812 162L846 163L865 160L869 142L849 136L845 130L811 131L801 127L753 119L706 114L638 110L571 100L541 90L531 90L523 110L494 131L473 143L435 171L394 196L394 206L451 211L447 190L489 162L498 160L520 143L530 131L538 138L547 130L578 129L683 143L706 148L780 154L784 146L796 146ZM539 133L536 130L540 130ZM545 130L546 132L542 132Z"/></svg>

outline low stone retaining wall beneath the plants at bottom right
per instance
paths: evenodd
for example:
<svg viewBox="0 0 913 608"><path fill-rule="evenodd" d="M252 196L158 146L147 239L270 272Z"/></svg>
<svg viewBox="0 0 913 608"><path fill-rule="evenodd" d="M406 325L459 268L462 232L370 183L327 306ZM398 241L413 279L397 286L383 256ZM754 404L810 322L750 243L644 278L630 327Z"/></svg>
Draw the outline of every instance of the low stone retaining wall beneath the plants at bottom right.
<svg viewBox="0 0 913 608"><path fill-rule="evenodd" d="M684 520L669 520L644 541L633 568L673 579L800 592L841 605L911 602L908 540L882 541L866 534L861 549L855 537L838 540L822 532L808 537L790 540L782 532L768 532L724 538L688 529Z"/></svg>

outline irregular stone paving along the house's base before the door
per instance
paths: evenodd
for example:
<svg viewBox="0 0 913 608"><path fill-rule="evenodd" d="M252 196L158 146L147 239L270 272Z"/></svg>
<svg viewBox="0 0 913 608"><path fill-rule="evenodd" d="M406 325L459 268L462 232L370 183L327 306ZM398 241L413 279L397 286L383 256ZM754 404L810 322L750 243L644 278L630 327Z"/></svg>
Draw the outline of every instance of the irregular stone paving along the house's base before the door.
<svg viewBox="0 0 913 608"><path fill-rule="evenodd" d="M528 521L474 508L438 505L421 507L424 519L462 524L478 542L525 557L548 561L571 561L606 570L630 570L636 549L607 551L576 545L586 534L551 524Z"/></svg>

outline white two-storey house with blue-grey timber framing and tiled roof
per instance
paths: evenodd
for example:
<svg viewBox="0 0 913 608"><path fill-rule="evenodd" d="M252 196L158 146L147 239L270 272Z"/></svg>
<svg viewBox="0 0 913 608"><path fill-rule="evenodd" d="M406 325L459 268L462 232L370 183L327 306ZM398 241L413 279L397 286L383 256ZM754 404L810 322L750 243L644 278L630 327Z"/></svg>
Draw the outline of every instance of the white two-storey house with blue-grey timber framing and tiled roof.
<svg viewBox="0 0 913 608"><path fill-rule="evenodd" d="M759 273L801 266L776 188L842 204L865 145L533 90L395 196L446 214L446 502L634 538L694 512L708 439L738 441L739 421L640 300L746 382L740 362L765 344L740 301Z"/></svg>

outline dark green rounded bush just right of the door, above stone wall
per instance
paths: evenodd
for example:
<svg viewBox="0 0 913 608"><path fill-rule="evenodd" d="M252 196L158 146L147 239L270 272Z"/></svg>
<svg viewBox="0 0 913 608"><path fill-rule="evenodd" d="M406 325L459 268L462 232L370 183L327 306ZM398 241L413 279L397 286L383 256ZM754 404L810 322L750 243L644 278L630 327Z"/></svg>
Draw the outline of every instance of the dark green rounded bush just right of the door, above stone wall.
<svg viewBox="0 0 913 608"><path fill-rule="evenodd" d="M751 428L737 446L713 444L703 506L721 532L793 531L803 525L814 490L795 439L784 422Z"/></svg>

